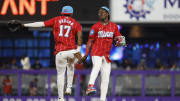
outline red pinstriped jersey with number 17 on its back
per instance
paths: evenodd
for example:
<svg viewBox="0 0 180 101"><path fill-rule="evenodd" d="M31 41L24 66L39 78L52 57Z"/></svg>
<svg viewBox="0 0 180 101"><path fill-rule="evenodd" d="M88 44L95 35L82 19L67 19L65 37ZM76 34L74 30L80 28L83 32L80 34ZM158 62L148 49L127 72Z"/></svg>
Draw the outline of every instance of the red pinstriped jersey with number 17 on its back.
<svg viewBox="0 0 180 101"><path fill-rule="evenodd" d="M72 17L58 16L44 21L45 27L52 27L55 40L55 54L76 49L75 35L82 26Z"/></svg>

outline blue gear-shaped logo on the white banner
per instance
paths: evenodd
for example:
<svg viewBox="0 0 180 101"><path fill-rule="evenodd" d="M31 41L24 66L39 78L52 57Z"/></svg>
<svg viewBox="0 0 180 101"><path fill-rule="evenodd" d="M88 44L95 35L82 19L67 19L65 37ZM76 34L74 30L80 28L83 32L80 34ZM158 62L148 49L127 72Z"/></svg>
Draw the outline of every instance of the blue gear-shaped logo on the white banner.
<svg viewBox="0 0 180 101"><path fill-rule="evenodd" d="M139 20L140 17L146 18L153 10L155 0L126 0L124 7L127 9L126 13L130 14L130 18L135 17Z"/></svg>

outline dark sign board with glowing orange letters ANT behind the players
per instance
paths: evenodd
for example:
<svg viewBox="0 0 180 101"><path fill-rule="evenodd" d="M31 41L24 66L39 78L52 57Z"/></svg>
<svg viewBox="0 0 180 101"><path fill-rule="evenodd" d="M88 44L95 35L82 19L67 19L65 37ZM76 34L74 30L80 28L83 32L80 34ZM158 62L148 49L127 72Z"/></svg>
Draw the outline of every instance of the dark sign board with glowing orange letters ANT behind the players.
<svg viewBox="0 0 180 101"><path fill-rule="evenodd" d="M0 0L0 22L48 20L59 16L65 5L73 7L76 20L93 23L98 20L98 9L108 6L109 0Z"/></svg>

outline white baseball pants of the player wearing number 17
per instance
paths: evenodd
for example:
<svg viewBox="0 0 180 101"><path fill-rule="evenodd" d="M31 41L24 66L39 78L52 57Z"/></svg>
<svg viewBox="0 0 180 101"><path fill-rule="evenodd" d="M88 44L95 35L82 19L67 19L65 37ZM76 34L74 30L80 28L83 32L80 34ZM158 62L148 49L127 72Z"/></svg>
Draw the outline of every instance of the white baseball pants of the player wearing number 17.
<svg viewBox="0 0 180 101"><path fill-rule="evenodd" d="M74 62L70 59L74 58L76 50L61 51L56 54L56 70L57 70L57 86L58 96L64 99L64 78L67 67L67 87L72 87L74 77Z"/></svg>

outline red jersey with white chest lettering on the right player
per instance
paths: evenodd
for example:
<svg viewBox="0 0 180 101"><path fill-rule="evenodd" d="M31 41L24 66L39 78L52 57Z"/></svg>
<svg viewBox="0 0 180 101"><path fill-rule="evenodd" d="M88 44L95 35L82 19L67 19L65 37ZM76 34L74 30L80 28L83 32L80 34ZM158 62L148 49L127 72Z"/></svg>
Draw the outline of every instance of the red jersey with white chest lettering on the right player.
<svg viewBox="0 0 180 101"><path fill-rule="evenodd" d="M89 39L94 39L91 48L91 56L105 56L109 57L113 39L121 36L118 26L109 22L103 25L101 22L94 24L90 30Z"/></svg>

